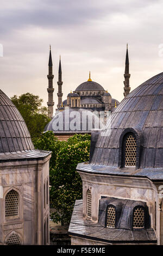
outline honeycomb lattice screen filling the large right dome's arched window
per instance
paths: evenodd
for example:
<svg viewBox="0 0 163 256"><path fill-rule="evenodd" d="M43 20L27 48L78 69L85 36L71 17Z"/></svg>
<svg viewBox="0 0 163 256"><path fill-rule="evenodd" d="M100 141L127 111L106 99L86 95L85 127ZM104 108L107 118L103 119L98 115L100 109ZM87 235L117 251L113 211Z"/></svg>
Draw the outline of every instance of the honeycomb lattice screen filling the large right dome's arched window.
<svg viewBox="0 0 163 256"><path fill-rule="evenodd" d="M126 139L125 166L136 166L136 139L133 135Z"/></svg>

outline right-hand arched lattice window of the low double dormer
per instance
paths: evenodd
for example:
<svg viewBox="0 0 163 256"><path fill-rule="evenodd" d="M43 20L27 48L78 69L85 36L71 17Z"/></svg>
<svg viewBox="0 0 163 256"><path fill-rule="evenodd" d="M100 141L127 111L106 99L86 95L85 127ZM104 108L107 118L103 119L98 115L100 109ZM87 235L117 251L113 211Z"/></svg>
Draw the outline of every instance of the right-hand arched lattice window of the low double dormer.
<svg viewBox="0 0 163 256"><path fill-rule="evenodd" d="M145 211L142 206L136 206L133 212L133 228L143 228L145 225Z"/></svg>

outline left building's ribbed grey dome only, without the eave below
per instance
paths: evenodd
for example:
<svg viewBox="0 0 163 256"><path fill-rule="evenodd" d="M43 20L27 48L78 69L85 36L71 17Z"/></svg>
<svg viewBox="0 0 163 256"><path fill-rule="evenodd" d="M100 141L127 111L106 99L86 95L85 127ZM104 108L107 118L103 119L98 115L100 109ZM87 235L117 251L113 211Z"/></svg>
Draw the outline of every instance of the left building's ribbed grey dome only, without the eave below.
<svg viewBox="0 0 163 256"><path fill-rule="evenodd" d="M34 149L26 123L2 90L0 90L0 127L0 153Z"/></svg>

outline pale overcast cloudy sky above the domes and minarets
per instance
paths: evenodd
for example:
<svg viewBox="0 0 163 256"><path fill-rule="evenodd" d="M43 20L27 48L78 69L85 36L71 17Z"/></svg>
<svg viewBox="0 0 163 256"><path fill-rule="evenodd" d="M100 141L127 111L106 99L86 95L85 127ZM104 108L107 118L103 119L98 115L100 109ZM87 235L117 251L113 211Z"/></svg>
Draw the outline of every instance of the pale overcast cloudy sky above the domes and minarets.
<svg viewBox="0 0 163 256"><path fill-rule="evenodd" d="M162 0L1 0L0 17L0 81L9 97L30 92L46 106L49 44L55 107L60 54L63 100L91 71L121 101L127 42L131 90L163 71Z"/></svg>

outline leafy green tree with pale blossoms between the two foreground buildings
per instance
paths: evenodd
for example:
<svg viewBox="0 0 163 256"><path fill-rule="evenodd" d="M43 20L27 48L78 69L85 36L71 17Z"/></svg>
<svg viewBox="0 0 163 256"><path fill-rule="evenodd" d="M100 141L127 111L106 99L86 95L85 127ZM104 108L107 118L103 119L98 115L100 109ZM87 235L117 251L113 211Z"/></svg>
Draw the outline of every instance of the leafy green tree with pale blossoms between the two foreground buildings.
<svg viewBox="0 0 163 256"><path fill-rule="evenodd" d="M90 139L90 135L76 134L61 142L48 131L35 142L35 148L52 151L50 205L55 209L52 218L56 223L70 223L74 202L82 199L82 180L76 167L89 161Z"/></svg>

